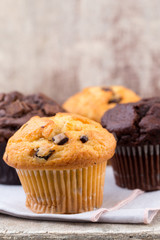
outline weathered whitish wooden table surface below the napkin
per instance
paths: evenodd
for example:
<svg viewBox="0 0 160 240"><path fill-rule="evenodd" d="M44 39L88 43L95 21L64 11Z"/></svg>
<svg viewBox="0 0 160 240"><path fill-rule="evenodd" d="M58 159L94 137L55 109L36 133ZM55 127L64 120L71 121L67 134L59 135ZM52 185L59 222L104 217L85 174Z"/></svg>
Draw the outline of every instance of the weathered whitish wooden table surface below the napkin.
<svg viewBox="0 0 160 240"><path fill-rule="evenodd" d="M0 214L1 239L160 239L160 213L150 225L35 221Z"/></svg>

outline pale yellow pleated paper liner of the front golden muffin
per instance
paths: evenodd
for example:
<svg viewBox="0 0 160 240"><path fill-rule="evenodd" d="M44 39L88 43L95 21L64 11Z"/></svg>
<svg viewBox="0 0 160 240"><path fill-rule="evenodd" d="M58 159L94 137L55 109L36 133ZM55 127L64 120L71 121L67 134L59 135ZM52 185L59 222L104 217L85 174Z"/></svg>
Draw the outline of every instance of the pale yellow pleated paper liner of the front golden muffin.
<svg viewBox="0 0 160 240"><path fill-rule="evenodd" d="M26 206L36 213L80 213L103 201L106 162L72 170L17 170Z"/></svg>

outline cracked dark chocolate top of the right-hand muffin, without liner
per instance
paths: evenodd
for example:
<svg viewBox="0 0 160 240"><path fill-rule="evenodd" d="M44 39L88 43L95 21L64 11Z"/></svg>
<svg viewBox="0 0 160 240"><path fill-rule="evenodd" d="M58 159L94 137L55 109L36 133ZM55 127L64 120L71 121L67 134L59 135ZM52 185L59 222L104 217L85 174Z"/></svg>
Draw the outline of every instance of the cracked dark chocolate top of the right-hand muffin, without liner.
<svg viewBox="0 0 160 240"><path fill-rule="evenodd" d="M118 145L160 144L160 98L119 104L104 114L101 123L116 134Z"/></svg>

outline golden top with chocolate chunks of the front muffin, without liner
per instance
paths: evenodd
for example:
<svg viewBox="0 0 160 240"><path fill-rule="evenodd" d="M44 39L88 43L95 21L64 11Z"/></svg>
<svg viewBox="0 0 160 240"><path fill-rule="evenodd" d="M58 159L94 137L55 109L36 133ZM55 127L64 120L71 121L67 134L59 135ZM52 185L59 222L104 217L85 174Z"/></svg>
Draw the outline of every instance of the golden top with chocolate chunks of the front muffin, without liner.
<svg viewBox="0 0 160 240"><path fill-rule="evenodd" d="M68 113L33 117L8 141L4 160L18 169L74 169L109 160L116 140L88 118Z"/></svg>

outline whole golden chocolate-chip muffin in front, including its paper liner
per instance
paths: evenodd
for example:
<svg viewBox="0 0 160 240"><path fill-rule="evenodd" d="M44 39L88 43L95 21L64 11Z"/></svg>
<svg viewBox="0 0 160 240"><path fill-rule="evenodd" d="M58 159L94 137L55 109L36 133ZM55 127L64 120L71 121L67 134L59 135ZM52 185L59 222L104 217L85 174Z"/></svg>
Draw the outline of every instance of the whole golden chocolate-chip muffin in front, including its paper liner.
<svg viewBox="0 0 160 240"><path fill-rule="evenodd" d="M4 160L17 169L26 206L36 213L78 213L103 200L114 136L99 123L68 113L33 117L8 141Z"/></svg>

